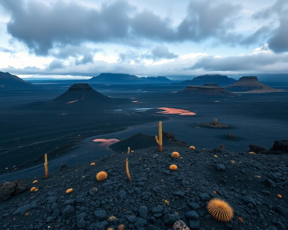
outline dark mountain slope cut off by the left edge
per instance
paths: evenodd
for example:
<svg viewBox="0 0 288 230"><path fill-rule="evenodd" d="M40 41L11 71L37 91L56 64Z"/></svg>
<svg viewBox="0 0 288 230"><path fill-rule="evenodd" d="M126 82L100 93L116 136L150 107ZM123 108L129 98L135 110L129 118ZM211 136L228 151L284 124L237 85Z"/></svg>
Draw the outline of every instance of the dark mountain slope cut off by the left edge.
<svg viewBox="0 0 288 230"><path fill-rule="evenodd" d="M27 90L40 88L8 72L0 71L0 90Z"/></svg>

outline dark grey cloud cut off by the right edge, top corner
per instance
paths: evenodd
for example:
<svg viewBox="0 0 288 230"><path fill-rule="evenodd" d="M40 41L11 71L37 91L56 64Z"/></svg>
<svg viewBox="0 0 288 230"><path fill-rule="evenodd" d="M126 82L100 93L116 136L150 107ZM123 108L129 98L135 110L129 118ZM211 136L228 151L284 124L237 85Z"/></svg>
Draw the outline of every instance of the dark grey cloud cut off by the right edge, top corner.
<svg viewBox="0 0 288 230"><path fill-rule="evenodd" d="M271 31L268 45L275 53L288 51L288 1L278 0L270 7L261 10L253 15L255 19L267 20L279 24Z"/></svg>

